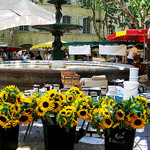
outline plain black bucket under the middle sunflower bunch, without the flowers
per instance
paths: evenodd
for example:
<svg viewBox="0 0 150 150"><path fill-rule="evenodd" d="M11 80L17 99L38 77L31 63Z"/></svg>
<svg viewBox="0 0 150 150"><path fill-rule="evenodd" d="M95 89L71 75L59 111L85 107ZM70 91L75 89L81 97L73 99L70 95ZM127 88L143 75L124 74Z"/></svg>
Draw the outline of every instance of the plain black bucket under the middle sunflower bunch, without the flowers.
<svg viewBox="0 0 150 150"><path fill-rule="evenodd" d="M59 125L43 124L45 150L73 150L75 141L75 127L69 132Z"/></svg>

